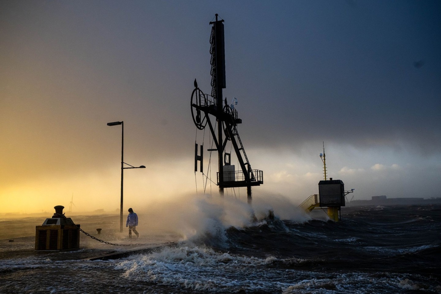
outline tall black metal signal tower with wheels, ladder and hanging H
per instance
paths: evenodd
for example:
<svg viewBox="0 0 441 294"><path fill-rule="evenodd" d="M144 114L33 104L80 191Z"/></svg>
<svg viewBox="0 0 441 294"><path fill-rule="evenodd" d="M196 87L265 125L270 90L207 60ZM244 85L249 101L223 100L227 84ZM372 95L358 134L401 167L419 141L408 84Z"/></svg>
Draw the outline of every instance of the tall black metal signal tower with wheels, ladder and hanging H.
<svg viewBox="0 0 441 294"><path fill-rule="evenodd" d="M202 93L194 79L194 90L191 93L191 115L193 121L199 130L203 130L208 124L213 136L216 149L208 151L217 151L219 171L217 173L217 185L219 194L224 195L224 188L247 187L248 203L251 203L251 187L263 184L263 172L251 169L242 141L237 131L237 125L242 120L237 117L237 111L233 104L230 107L225 98L222 99L222 89L225 86L225 48L224 48L224 20L210 22L212 26L210 36L210 54L211 54L211 95ZM211 118L216 119L213 126ZM215 128L217 127L217 130ZM231 141L237 156L240 170L235 171L235 166L231 165L231 153L225 152L225 145ZM203 167L203 146L200 146L200 155L198 155L198 144L195 143L194 152L194 171L198 170L198 161L200 161L200 171Z"/></svg>

